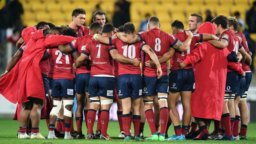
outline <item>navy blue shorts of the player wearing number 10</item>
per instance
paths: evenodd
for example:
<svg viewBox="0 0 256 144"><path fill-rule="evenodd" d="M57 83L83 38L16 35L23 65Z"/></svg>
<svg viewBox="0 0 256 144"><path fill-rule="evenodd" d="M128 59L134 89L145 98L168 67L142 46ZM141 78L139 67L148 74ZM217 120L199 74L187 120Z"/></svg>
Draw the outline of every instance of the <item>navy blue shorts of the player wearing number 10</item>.
<svg viewBox="0 0 256 144"><path fill-rule="evenodd" d="M140 74L122 74L118 77L118 98L141 98L142 78Z"/></svg>

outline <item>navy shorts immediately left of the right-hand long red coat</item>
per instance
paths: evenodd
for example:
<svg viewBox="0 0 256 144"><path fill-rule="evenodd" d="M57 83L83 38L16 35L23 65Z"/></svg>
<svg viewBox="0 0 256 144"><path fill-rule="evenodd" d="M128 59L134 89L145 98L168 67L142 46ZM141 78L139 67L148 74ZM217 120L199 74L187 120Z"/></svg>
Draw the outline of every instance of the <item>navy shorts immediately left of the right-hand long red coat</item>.
<svg viewBox="0 0 256 144"><path fill-rule="evenodd" d="M195 91L195 75L193 69L173 70L169 74L169 91Z"/></svg>

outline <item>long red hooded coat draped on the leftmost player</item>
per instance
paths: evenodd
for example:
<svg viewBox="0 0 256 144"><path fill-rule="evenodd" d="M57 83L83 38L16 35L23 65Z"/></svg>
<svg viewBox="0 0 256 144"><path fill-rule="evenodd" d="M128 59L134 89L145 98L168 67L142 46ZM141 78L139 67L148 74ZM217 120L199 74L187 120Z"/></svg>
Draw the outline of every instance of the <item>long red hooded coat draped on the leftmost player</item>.
<svg viewBox="0 0 256 144"><path fill-rule="evenodd" d="M2 81L6 76L0 79L0 93L13 103L28 102L29 97L45 100L45 90L39 66L45 49L57 47L60 44L69 44L74 39L74 37L64 35L47 35L44 37L43 30L33 33L20 59L20 66L16 65L13 68L15 73L10 72L6 75L11 77L8 79L8 84L6 81ZM19 67L18 72L17 67Z"/></svg>

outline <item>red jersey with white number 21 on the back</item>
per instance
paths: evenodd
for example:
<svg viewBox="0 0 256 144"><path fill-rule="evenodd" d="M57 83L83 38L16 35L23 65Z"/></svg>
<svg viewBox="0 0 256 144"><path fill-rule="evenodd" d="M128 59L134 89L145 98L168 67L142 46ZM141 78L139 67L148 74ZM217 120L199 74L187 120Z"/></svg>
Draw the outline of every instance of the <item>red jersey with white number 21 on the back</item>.
<svg viewBox="0 0 256 144"><path fill-rule="evenodd" d="M70 79L75 78L75 71L72 67L72 54L62 54L58 48L52 48L52 60L54 61L53 79Z"/></svg>

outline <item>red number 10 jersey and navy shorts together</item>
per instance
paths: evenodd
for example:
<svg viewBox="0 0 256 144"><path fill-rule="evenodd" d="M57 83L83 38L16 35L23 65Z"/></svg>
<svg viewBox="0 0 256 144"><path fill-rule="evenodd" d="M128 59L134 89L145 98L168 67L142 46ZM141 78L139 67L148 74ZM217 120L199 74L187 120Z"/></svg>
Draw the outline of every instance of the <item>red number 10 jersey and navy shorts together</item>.
<svg viewBox="0 0 256 144"><path fill-rule="evenodd" d="M127 44L117 37L109 37L109 44L117 47L119 54L130 59L140 58L140 51L145 42ZM140 66L119 64L119 77L117 79L119 98L140 98L142 96L142 78Z"/></svg>

